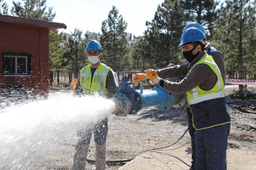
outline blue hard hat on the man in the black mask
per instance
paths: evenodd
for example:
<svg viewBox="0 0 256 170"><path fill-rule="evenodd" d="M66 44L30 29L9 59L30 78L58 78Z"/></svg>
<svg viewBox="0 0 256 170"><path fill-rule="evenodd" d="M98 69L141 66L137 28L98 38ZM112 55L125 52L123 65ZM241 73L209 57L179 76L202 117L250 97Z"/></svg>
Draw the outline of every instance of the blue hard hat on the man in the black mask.
<svg viewBox="0 0 256 170"><path fill-rule="evenodd" d="M204 33L198 29L198 28L195 28L195 27L191 27L191 28L188 28L186 29L182 35L181 35L181 42L180 42L180 46L184 45L184 44L187 44L189 42L195 42L195 41L200 41L202 42L203 44L205 44L205 40L207 38L205 37Z"/></svg>

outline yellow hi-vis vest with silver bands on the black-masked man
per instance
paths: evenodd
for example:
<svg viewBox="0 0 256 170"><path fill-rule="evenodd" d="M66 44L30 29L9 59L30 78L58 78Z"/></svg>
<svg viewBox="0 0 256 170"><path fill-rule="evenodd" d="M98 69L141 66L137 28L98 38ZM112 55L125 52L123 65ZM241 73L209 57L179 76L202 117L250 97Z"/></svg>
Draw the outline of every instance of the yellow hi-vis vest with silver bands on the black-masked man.
<svg viewBox="0 0 256 170"><path fill-rule="evenodd" d="M217 64L214 62L212 56L209 56L208 54L205 54L198 62L194 64L194 66L189 70L189 72L198 64L207 64L217 75L218 80L215 84L215 86L209 90L204 91L200 89L199 86L196 86L194 89L187 92L187 101L189 104L195 104L199 103L205 100L211 100L216 98L222 98L225 97L224 92L224 83L221 77L220 70L217 66Z"/></svg>

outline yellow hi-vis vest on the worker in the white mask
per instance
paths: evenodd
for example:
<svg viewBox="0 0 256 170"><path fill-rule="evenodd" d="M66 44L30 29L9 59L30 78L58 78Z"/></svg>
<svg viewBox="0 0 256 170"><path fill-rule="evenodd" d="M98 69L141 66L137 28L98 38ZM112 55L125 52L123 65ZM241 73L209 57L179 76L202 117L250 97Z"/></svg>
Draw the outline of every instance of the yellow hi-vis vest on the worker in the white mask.
<svg viewBox="0 0 256 170"><path fill-rule="evenodd" d="M83 87L84 93L93 93L100 92L106 93L108 90L106 89L106 80L107 75L110 70L110 67L105 64L100 64L100 66L96 69L93 74L93 78L91 77L91 64L85 66L80 71L80 87Z"/></svg>

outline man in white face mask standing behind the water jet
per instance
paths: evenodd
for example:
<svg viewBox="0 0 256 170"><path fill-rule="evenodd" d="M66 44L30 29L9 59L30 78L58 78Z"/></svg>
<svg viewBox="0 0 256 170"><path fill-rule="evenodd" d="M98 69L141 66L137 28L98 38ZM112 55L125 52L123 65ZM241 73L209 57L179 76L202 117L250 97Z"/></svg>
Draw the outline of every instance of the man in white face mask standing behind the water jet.
<svg viewBox="0 0 256 170"><path fill-rule="evenodd" d="M99 93L103 97L111 98L116 93L117 84L112 69L100 62L102 53L98 41L91 40L88 42L86 56L90 64L80 71L75 87L75 95ZM75 148L73 170L85 169L92 133L94 133L96 145L95 169L105 169L108 118L96 123L92 127L86 127L86 129L82 129L77 133L78 140Z"/></svg>

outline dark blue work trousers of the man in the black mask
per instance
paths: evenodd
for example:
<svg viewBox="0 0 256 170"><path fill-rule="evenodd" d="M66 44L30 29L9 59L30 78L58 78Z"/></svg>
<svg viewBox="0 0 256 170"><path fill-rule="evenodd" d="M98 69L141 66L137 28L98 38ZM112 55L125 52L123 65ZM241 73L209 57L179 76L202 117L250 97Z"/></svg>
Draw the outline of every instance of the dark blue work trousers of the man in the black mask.
<svg viewBox="0 0 256 170"><path fill-rule="evenodd" d="M195 130L195 169L225 170L230 123Z"/></svg>

